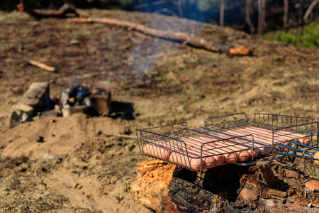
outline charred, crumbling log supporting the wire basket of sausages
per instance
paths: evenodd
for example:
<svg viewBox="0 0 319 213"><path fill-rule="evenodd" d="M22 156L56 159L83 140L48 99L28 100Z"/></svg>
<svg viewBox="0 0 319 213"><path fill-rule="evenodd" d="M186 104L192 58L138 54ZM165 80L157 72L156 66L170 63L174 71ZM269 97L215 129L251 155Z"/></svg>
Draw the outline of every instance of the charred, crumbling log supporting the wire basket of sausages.
<svg viewBox="0 0 319 213"><path fill-rule="evenodd" d="M140 163L143 164L144 162ZM163 163L170 165L169 163ZM156 173L157 167L149 167L147 173ZM243 167L228 164L211 168L203 173L177 168L172 174L172 181L167 188L156 191L156 187L164 178L164 173L157 176L152 183L143 188L152 191L152 198L137 197L138 200L151 199L150 209L163 212L165 204L175 207L179 212L319 212L318 181L310 180L300 171L285 165L270 165L276 181L272 188L264 185L257 165ZM155 170L152 171L151 170ZM163 170L162 170L163 172ZM172 173L172 170L167 170ZM159 174L157 172L157 174ZM143 182L144 176L135 180ZM152 178L150 178L152 179ZM139 189L139 190L143 190ZM135 191L137 189L135 188ZM145 193L145 192L142 192ZM162 196L163 195L163 196ZM166 197L165 197L166 196ZM154 202L157 197L165 197L169 202Z"/></svg>

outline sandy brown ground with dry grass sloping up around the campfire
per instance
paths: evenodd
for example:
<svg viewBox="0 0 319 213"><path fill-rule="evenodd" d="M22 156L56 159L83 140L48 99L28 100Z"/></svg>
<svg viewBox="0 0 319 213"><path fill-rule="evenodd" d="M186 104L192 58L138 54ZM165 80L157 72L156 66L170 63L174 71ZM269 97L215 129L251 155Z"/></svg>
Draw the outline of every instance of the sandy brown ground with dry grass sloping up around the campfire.
<svg viewBox="0 0 319 213"><path fill-rule="evenodd" d="M136 129L211 116L257 112L319 118L319 50L297 49L231 28L156 14L79 10L81 16L135 21L183 31L253 55L229 57L172 40L101 23L35 21L0 13L0 212L151 212L135 200L130 182L140 155ZM45 72L25 59L57 67ZM32 82L67 87L111 82L111 117L43 116L8 129L9 114ZM55 120L53 122L52 120ZM36 138L43 136L44 142ZM318 168L297 162L318 178Z"/></svg>

